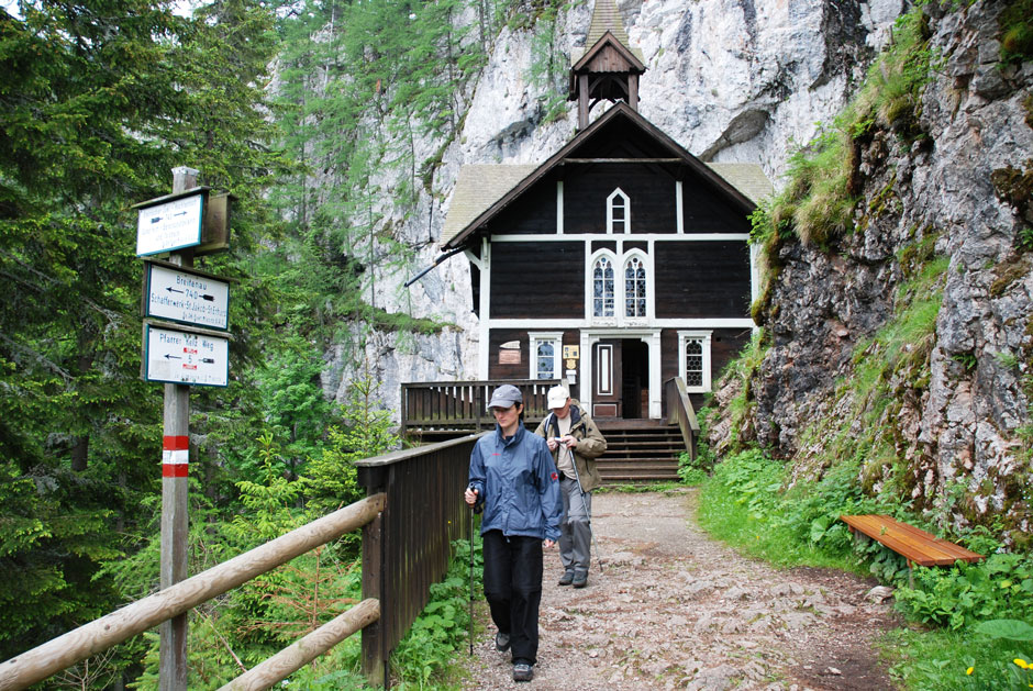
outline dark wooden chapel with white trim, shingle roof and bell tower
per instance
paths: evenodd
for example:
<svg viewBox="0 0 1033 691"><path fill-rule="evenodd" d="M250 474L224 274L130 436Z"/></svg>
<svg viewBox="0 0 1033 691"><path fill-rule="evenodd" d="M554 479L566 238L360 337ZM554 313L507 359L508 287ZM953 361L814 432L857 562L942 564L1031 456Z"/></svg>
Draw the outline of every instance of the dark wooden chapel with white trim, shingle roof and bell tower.
<svg viewBox="0 0 1033 691"><path fill-rule="evenodd" d="M574 138L538 166L465 166L442 248L465 249L482 380L567 380L600 419L660 419L664 382L695 405L748 339L748 214L759 166L708 166L637 112L645 71L612 0L576 58ZM589 123L595 102L615 103Z"/></svg>

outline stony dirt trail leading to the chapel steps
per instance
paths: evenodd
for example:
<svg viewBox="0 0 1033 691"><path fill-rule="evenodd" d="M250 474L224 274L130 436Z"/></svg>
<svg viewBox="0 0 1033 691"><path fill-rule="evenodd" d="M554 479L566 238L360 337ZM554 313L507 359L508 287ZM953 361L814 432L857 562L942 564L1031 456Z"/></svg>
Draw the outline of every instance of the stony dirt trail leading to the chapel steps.
<svg viewBox="0 0 1033 691"><path fill-rule="evenodd" d="M597 493L587 588L556 584L545 557L538 664L512 681L481 600L469 658L475 689L879 690L893 684L873 645L897 622L875 586L826 569L776 570L710 539L696 491Z"/></svg>

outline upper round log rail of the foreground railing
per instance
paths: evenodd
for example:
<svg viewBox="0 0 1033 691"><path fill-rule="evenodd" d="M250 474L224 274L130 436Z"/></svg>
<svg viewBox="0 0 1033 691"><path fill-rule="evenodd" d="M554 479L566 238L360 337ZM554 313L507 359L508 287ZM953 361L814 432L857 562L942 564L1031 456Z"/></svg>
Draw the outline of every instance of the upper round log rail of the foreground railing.
<svg viewBox="0 0 1033 691"><path fill-rule="evenodd" d="M366 525L384 511L386 494L367 497L245 551L89 624L0 664L0 691L24 689L126 638Z"/></svg>

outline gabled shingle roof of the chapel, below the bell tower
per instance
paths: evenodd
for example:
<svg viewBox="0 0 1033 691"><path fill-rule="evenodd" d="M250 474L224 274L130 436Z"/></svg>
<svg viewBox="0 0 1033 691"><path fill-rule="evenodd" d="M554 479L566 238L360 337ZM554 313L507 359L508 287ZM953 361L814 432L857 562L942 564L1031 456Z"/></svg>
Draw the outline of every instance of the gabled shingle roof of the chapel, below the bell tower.
<svg viewBox="0 0 1033 691"><path fill-rule="evenodd" d="M531 186L543 179L557 166L562 166L566 158L573 158L571 154L586 144L598 140L600 136L604 137L604 132L620 121L637 127L665 151L671 159L677 159L679 165L689 168L710 182L719 193L740 207L744 215L753 211L758 199L755 194L764 190L762 180L766 180L759 166L722 164L723 166L752 166L748 171L746 168L725 168L726 172L734 174L743 182L748 182L744 189L740 189L682 148L626 103L617 103L540 166L464 166L459 170L459 179L456 181L456 188L453 192L448 218L445 220L445 226L442 231L442 249L453 249L466 244L471 235L480 231L503 209L519 199ZM760 193L760 197L763 197L763 193ZM456 214L455 219L453 219L454 213Z"/></svg>

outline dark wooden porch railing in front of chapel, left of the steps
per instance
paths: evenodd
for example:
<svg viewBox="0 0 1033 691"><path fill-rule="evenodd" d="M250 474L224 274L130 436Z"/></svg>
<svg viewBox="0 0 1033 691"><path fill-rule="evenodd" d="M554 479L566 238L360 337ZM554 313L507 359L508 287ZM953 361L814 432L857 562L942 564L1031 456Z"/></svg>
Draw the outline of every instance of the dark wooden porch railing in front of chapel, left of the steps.
<svg viewBox="0 0 1033 691"><path fill-rule="evenodd" d="M481 381L432 381L403 383L401 433L410 438L434 431L481 432L495 428L495 419L485 408L496 387L511 383L524 398L524 420L545 417L545 393L559 379L512 379Z"/></svg>

